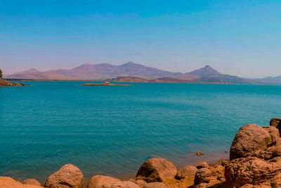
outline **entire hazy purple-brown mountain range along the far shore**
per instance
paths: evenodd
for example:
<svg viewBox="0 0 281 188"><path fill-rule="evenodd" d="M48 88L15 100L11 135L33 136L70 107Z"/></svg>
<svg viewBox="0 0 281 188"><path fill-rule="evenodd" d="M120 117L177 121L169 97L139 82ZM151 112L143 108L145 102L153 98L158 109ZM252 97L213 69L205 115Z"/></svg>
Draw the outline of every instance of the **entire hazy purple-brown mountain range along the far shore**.
<svg viewBox="0 0 281 188"><path fill-rule="evenodd" d="M32 79L32 80L115 80L115 81L132 81L136 78L143 82L211 82L211 83L239 83L239 84L261 84L263 82L272 82L273 78L265 80L249 80L233 75L219 73L211 66L206 65L204 68L194 70L190 73L173 73L157 68L151 68L145 65L133 62L122 65L111 65L108 63L100 64L83 64L72 69L56 69L48 71L39 71L30 69L7 75L6 77ZM117 79L119 77L119 80ZM122 77L122 80L120 80ZM266 81L268 80L268 81ZM280 77L281 83L281 77Z"/></svg>

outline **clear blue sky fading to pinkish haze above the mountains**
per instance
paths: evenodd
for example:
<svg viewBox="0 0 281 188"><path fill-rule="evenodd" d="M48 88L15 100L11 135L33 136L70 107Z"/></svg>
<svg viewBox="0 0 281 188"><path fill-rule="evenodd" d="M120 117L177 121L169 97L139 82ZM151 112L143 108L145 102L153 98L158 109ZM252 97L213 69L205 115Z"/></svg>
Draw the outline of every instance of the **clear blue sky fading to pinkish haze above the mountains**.
<svg viewBox="0 0 281 188"><path fill-rule="evenodd" d="M186 73L211 65L281 75L281 1L0 0L0 68L129 61Z"/></svg>

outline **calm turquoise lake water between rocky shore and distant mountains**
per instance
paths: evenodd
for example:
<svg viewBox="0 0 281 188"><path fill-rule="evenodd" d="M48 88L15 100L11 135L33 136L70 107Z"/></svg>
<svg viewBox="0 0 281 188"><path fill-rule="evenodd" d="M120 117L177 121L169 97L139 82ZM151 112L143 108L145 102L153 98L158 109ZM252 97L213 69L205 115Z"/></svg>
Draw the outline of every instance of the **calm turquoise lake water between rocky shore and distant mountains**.
<svg viewBox="0 0 281 188"><path fill-rule="evenodd" d="M0 87L0 175L18 180L46 180L66 163L86 178L129 178L154 156L178 168L212 162L242 125L281 117L281 86L26 83Z"/></svg>

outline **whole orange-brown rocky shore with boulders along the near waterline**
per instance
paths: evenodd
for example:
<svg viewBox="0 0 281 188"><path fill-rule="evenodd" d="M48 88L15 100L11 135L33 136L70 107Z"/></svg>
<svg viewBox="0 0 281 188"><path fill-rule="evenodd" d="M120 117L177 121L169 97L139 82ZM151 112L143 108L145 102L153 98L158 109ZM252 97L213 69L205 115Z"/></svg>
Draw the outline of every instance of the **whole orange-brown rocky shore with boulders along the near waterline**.
<svg viewBox="0 0 281 188"><path fill-rule="evenodd" d="M244 125L230 147L230 160L204 161L181 169L164 158L150 158L136 173L135 179L121 181L94 175L88 183L72 164L63 165L44 184L29 179L22 182L0 177L0 188L187 188L187 187L281 187L281 120L273 118L270 126Z"/></svg>

